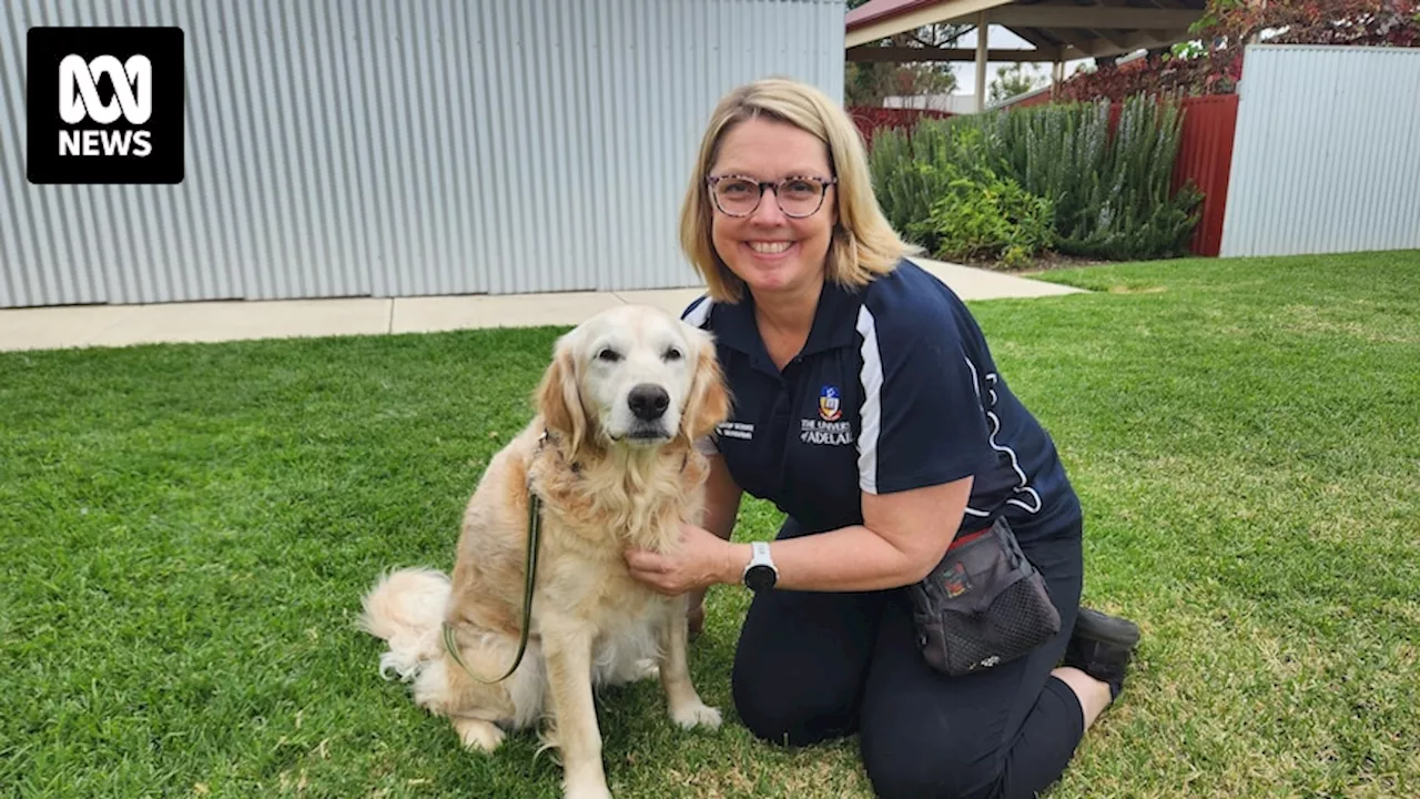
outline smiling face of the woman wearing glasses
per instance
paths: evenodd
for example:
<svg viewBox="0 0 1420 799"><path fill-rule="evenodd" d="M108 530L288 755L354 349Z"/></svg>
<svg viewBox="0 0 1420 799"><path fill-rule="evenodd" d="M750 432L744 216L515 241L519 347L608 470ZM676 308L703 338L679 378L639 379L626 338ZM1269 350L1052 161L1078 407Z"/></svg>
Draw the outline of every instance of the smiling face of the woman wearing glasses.
<svg viewBox="0 0 1420 799"><path fill-rule="evenodd" d="M740 175L751 181L802 176L826 181L832 173L822 141L794 125L758 118L731 128L710 166L710 175ZM714 186L710 191L714 192ZM815 284L824 279L824 262L838 220L835 188L828 186L818 212L804 219L785 216L775 199L775 192L765 189L758 208L748 216L728 216L713 209L710 239L720 259L757 297L794 296L811 287L816 294ZM797 212L788 193L784 205Z"/></svg>

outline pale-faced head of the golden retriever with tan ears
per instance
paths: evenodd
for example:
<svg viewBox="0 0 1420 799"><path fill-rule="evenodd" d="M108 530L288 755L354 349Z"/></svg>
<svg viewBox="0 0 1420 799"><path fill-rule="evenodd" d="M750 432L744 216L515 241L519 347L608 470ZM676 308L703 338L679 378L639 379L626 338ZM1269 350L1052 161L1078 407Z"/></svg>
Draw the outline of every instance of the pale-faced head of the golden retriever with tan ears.
<svg viewBox="0 0 1420 799"><path fill-rule="evenodd" d="M730 412L714 340L648 306L618 306L562 336L537 390L548 428L585 446L660 446Z"/></svg>

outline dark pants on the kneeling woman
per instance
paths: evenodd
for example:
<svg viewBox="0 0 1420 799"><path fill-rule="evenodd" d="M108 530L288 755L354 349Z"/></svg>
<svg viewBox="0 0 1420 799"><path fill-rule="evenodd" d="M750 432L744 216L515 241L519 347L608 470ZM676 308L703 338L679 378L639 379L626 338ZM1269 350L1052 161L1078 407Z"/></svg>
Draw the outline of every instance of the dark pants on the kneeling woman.
<svg viewBox="0 0 1420 799"><path fill-rule="evenodd" d="M780 537L802 535L790 519ZM734 704L757 736L787 746L859 735L885 799L1035 796L1075 754L1085 717L1051 670L1079 607L1079 523L1021 542L1061 611L1030 655L951 678L923 660L903 590L754 597L734 658Z"/></svg>

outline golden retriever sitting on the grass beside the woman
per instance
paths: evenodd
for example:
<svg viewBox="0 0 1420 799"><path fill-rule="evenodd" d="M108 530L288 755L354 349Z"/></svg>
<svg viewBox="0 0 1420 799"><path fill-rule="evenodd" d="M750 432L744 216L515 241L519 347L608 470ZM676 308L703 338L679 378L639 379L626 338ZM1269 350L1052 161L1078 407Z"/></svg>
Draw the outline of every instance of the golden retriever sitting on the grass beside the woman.
<svg viewBox="0 0 1420 799"><path fill-rule="evenodd" d="M568 798L611 796L592 694L659 672L670 717L716 728L686 664L684 597L633 580L623 552L665 552L700 523L706 458L694 441L728 414L709 333L645 306L596 314L557 341L537 415L488 463L463 515L452 579L402 569L376 580L359 623L388 641L381 674L413 680L415 702L491 752L504 729L548 721ZM542 502L527 653L523 623L528 490ZM444 650L447 624L479 680Z"/></svg>

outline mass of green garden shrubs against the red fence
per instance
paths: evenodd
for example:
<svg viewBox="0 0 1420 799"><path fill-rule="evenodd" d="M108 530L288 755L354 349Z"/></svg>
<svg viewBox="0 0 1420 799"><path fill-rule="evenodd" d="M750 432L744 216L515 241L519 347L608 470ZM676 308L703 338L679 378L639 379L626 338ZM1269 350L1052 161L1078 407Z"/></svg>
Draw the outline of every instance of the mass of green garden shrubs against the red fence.
<svg viewBox="0 0 1420 799"><path fill-rule="evenodd" d="M993 239L978 236L988 227L978 213L990 209L1004 223L997 240L1021 239L1022 250L1012 253L1034 254L1030 247L1041 237L1032 225L1049 219L1044 246L1066 254L1186 254L1203 195L1191 183L1172 189L1180 129L1180 108L1153 98L1123 102L1113 134L1108 102L924 121L875 141L875 189L893 226L940 257L966 257L944 253L976 252L970 242ZM961 179L994 193L968 203L967 183L954 183ZM949 213L968 219L953 227ZM1011 226L1022 230L1005 235ZM967 229L974 232L949 240Z"/></svg>

